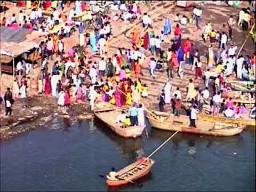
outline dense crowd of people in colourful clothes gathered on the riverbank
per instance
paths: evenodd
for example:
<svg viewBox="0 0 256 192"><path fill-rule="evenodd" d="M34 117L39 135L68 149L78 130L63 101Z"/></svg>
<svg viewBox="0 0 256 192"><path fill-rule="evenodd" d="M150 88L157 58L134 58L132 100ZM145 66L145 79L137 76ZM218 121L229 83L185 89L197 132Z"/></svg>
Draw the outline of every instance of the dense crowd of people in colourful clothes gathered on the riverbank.
<svg viewBox="0 0 256 192"><path fill-rule="evenodd" d="M145 124L142 118L145 106L141 102L142 98L148 97L149 86L142 83L140 78L145 75L142 68L146 67L153 80L156 78L155 71L161 69L166 71L169 78L159 95L160 111L168 104L174 115L179 116L182 104L189 102L190 120L193 120L206 102L210 104L213 115L220 113L226 117L238 117L249 110L242 103L233 102L232 98L223 100L223 94L230 91L227 81L230 77L242 79L244 71L252 76L256 74L255 53L251 57L242 54L236 57L238 47L235 46L232 33L236 20L233 17L222 25L221 30L214 29L210 22L203 25L201 15L204 13L200 7L194 7L191 19L186 15L180 17L179 14L175 15L173 21L165 17L161 31L157 31L153 27L154 21L148 13L143 13L139 2L121 1L116 3L119 13L114 14L113 18L107 14L97 14L95 25L92 24L94 28L88 31L76 15L91 9L92 5L76 1L71 3L74 9L66 14L63 7L69 2L53 1L51 5L45 2L51 1L44 1L42 5L32 8L30 15L21 10L18 17L14 14L9 20L4 18L1 25L13 27L17 23L18 27L24 27L29 23L31 30L53 31L39 45L42 62L37 83L38 93L58 98L60 107L87 100L93 110L95 100L101 100L117 107L130 106L128 113L118 116L117 123L121 122L124 126ZM45 18L42 9L47 10L49 7L53 12ZM247 10L239 12L237 24L244 30L252 25L249 15ZM141 27L132 25L131 46L119 47L116 53L110 55L109 41L113 25L126 21L133 23L134 20L140 21ZM189 22L194 22L196 29L202 29L202 38L207 44L206 55L202 55L202 50L190 38L182 39L182 28ZM62 26L57 28L60 23ZM66 47L65 38L75 31L78 33L78 46ZM171 46L165 50L163 44L170 39ZM148 61L146 53L151 54ZM100 57L99 61L93 59L95 55ZM56 61L50 65L53 58ZM207 59L206 69L203 66L204 58ZM179 87L174 89L171 83L175 76L184 78L187 65L191 67L195 78L189 79L185 93ZM25 60L17 64L17 81L14 81L12 90L14 100L29 95L29 74L32 69L33 66ZM204 82L202 87L195 85L198 78ZM233 115L230 115L230 110L234 112ZM194 121L191 121L191 126L195 127Z"/></svg>

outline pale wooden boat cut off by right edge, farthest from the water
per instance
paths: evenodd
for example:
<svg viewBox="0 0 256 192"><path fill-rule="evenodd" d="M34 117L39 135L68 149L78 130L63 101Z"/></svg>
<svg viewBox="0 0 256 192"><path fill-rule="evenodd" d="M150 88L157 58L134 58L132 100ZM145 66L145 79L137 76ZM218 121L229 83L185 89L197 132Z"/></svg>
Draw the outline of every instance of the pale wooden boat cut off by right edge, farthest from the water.
<svg viewBox="0 0 256 192"><path fill-rule="evenodd" d="M255 92L256 85L252 81L229 81L231 88L235 91Z"/></svg>

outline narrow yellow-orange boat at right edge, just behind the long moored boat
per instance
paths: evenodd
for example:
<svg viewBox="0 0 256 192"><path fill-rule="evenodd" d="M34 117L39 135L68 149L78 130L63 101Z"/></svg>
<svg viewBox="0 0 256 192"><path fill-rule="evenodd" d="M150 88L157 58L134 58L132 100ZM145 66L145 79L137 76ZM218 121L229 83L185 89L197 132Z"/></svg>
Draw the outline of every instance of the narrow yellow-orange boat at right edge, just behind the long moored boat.
<svg viewBox="0 0 256 192"><path fill-rule="evenodd" d="M209 121L209 122L219 122L219 123L230 123L230 124L238 124L238 125L251 125L255 126L256 122L255 119L236 119L236 118L227 118L224 116L216 116L216 115L207 115L205 113L200 113L197 115L198 119Z"/></svg>

